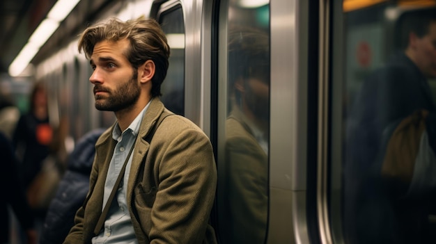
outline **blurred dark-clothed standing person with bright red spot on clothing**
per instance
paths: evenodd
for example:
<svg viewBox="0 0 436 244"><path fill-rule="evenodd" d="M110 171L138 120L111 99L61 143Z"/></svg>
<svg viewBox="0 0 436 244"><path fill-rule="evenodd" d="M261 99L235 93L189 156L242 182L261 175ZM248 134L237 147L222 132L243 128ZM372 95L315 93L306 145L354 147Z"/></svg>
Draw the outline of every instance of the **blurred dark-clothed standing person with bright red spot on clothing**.
<svg viewBox="0 0 436 244"><path fill-rule="evenodd" d="M29 111L20 116L13 133L20 181L36 215L38 230L63 171L58 153L63 148L61 136L65 128L50 123L47 92L42 81L33 84Z"/></svg>

